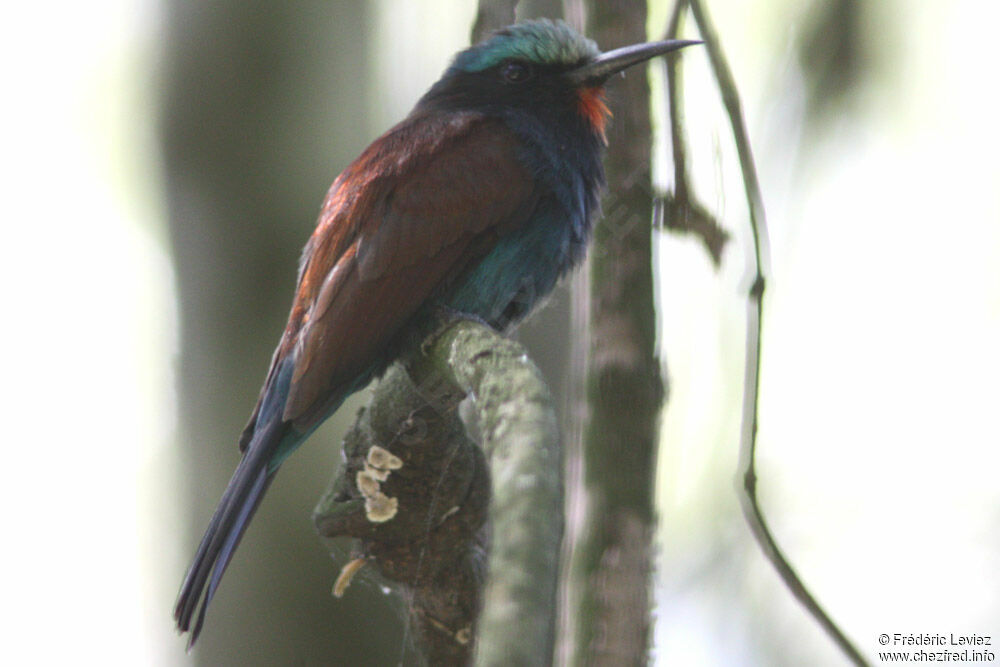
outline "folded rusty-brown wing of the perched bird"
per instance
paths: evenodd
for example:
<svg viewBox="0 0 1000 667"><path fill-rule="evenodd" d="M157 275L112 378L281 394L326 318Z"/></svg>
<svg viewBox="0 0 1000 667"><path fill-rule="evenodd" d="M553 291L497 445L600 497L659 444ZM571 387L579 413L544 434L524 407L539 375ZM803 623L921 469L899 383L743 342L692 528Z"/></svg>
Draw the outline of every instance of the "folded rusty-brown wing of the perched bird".
<svg viewBox="0 0 1000 667"><path fill-rule="evenodd" d="M411 117L338 177L276 354L295 360L285 421L324 418L422 305L524 224L535 190L516 147L480 114Z"/></svg>

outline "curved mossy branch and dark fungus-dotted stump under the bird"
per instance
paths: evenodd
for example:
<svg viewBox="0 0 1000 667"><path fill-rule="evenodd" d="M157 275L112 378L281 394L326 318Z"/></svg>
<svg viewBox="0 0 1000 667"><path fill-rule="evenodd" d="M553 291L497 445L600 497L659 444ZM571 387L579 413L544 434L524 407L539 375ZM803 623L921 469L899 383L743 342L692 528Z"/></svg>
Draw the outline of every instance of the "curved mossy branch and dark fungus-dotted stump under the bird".
<svg viewBox="0 0 1000 667"><path fill-rule="evenodd" d="M448 325L386 374L344 456L316 525L357 538L351 562L403 585L425 659L466 664L475 646L477 664L547 664L562 457L524 348L475 322Z"/></svg>

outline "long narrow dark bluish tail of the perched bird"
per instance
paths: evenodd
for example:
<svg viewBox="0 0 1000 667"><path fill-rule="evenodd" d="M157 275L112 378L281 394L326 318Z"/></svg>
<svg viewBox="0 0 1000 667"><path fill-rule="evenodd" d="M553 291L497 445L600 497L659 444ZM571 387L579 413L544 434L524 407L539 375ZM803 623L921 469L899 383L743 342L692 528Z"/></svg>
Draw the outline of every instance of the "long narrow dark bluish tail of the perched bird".
<svg viewBox="0 0 1000 667"><path fill-rule="evenodd" d="M188 648L198 640L208 603L274 477L275 471L270 469L269 464L287 429L287 424L277 421L277 424L261 429L256 434L259 437L255 437L247 447L243 460L222 494L205 536L201 538L184 583L181 584L174 607L174 620L179 631L191 632ZM192 627L191 619L195 610L198 611L198 616Z"/></svg>

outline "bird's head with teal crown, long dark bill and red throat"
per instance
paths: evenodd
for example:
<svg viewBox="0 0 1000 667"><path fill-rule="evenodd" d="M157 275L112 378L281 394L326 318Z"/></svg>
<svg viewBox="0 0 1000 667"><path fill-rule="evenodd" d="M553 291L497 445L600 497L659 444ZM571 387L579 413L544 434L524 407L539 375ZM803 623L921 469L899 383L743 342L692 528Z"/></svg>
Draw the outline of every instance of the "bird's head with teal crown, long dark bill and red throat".
<svg viewBox="0 0 1000 667"><path fill-rule="evenodd" d="M658 55L697 44L671 40L601 53L562 21L508 26L455 56L424 103L487 111L518 109L582 120L603 137L609 116L604 83Z"/></svg>

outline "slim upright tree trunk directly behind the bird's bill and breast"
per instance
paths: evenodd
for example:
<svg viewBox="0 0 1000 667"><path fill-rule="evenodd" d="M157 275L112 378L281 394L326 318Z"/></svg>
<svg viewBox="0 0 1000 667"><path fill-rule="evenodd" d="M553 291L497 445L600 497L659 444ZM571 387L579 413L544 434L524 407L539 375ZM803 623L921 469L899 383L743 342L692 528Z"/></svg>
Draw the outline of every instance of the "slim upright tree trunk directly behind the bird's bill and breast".
<svg viewBox="0 0 1000 667"><path fill-rule="evenodd" d="M594 1L587 9L588 34L603 49L646 41L645 3ZM664 397L655 353L645 68L608 87L614 113L605 159L608 194L589 255L586 513L571 573L571 662L637 665L646 661L649 644L654 470Z"/></svg>

